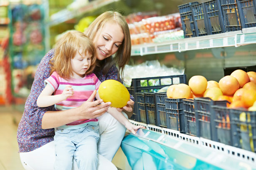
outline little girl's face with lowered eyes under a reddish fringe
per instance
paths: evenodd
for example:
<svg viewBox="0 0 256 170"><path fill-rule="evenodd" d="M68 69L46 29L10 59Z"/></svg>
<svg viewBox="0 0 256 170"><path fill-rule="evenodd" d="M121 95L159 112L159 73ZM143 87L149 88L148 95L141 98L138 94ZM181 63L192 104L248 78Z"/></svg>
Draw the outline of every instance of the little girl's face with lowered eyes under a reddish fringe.
<svg viewBox="0 0 256 170"><path fill-rule="evenodd" d="M80 53L82 55L80 55ZM71 78L83 78L86 71L90 68L92 62L92 54L82 53L82 51L77 51L75 57L71 59L71 66L73 70L73 75Z"/></svg>

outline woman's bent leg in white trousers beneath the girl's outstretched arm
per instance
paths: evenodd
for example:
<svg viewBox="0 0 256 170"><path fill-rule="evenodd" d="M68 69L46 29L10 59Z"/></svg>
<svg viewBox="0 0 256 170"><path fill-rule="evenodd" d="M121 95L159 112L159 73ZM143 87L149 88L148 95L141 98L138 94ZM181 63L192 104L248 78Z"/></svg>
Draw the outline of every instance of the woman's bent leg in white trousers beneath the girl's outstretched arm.
<svg viewBox="0 0 256 170"><path fill-rule="evenodd" d="M122 113L125 117L127 117L124 112ZM98 153L107 158L109 161L112 161L119 146L121 145L122 139L124 138L126 128L108 112L98 117L98 120L100 135L98 142Z"/></svg>

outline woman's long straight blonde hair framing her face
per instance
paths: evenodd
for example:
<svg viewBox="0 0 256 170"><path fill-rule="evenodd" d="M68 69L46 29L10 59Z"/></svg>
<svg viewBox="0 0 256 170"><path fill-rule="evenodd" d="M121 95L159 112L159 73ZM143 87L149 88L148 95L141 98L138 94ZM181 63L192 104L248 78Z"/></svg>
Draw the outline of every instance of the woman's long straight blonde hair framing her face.
<svg viewBox="0 0 256 170"><path fill-rule="evenodd" d="M107 11L99 15L92 24L85 30L85 34L89 36L92 41L96 41L98 38L97 36L100 34L102 28L106 23L115 22L119 24L122 28L124 33L124 40L119 46L114 60L112 57L105 58L104 62L97 60L97 67L102 70L103 74L107 74L109 69L114 65L117 64L118 70L121 71L121 77L123 76L124 66L129 63L129 59L131 56L131 36L129 32L128 24L125 18L119 13L114 11ZM95 39L96 38L96 39Z"/></svg>

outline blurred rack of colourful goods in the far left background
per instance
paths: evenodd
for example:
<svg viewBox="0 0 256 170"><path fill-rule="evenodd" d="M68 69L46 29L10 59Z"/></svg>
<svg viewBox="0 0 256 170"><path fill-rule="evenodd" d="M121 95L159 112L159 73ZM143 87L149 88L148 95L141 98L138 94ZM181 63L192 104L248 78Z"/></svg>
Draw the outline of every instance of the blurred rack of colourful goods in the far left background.
<svg viewBox="0 0 256 170"><path fill-rule="evenodd" d="M36 66L46 53L45 6L21 3L12 5L11 13L12 90L15 96L27 97Z"/></svg>

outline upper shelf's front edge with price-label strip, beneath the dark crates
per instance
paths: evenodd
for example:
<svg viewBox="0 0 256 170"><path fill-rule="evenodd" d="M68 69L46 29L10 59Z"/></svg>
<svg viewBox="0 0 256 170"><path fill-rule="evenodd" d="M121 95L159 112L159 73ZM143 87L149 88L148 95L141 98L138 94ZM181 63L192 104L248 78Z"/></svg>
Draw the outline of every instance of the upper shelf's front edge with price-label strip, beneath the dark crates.
<svg viewBox="0 0 256 170"><path fill-rule="evenodd" d="M182 52L216 47L241 46L256 43L256 28L244 29L244 32L226 32L222 34L192 37L164 43L152 43L132 46L131 56L144 56L156 53Z"/></svg>

